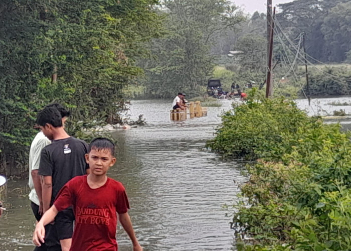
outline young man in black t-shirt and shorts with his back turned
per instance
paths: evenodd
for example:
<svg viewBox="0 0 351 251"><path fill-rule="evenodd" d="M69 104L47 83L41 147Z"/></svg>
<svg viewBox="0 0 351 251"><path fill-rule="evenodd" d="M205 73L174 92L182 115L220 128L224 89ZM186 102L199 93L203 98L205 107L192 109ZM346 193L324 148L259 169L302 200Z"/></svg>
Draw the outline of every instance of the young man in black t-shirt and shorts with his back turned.
<svg viewBox="0 0 351 251"><path fill-rule="evenodd" d="M43 213L45 213L60 189L73 177L89 172L84 155L88 145L70 137L62 124L61 114L55 107L45 107L38 113L37 123L52 144L43 148L40 156L39 175L43 180ZM71 247L74 214L71 208L55 218L55 228L63 251Z"/></svg>

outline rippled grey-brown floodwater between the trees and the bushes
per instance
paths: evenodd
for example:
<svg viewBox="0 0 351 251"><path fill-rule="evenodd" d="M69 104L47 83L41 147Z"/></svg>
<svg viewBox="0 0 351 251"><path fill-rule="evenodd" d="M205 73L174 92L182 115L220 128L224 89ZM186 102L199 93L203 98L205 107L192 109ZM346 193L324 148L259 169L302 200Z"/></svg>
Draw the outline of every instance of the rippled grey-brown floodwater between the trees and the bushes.
<svg viewBox="0 0 351 251"><path fill-rule="evenodd" d="M182 122L169 120L171 100L133 101L131 117L143 114L146 126L115 131L117 164L109 176L121 181L130 200L135 232L144 250L234 249L231 217L224 204L235 203L238 185L245 181L240 165L223 161L204 149L228 110L209 107L208 116ZM351 98L297 100L310 115L351 114ZM335 106L335 104L344 104ZM349 116L337 118L351 129ZM326 120L335 122L335 119ZM0 250L33 250L34 216L29 206L26 181L9 181L5 194L7 213L0 218ZM231 211L229 211L231 212ZM132 250L118 226L119 250Z"/></svg>

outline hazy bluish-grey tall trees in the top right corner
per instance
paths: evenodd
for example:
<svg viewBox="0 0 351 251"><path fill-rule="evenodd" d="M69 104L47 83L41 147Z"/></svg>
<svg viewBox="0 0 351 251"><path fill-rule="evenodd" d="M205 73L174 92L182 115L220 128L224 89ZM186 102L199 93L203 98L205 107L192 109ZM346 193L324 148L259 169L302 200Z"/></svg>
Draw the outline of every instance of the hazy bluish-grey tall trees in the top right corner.
<svg viewBox="0 0 351 251"><path fill-rule="evenodd" d="M348 0L297 0L278 5L277 20L290 38L306 34L307 53L322 62L342 62L349 48Z"/></svg>

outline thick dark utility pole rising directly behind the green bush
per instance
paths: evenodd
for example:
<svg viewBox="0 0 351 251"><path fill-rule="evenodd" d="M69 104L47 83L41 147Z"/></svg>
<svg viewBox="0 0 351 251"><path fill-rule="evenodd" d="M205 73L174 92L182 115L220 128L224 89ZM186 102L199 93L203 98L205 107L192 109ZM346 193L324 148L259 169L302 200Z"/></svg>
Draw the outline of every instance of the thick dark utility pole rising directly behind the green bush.
<svg viewBox="0 0 351 251"><path fill-rule="evenodd" d="M267 85L266 85L266 98L272 96L273 84L272 84L272 58L273 58L273 34L274 34L274 13L272 14L272 0L267 0Z"/></svg>

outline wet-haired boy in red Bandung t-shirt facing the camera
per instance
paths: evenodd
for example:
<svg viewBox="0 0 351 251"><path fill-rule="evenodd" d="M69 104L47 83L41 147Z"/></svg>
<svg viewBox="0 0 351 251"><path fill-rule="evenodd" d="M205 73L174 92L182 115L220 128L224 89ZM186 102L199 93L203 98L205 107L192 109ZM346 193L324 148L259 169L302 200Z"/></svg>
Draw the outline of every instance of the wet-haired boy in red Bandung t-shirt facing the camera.
<svg viewBox="0 0 351 251"><path fill-rule="evenodd" d="M106 176L114 165L114 144L105 138L94 139L85 155L91 173L66 183L53 206L43 215L33 234L37 246L44 243L45 228L57 213L73 205L76 217L71 251L117 251L116 226L119 221L129 235L134 251L142 251L128 215L129 203L122 183Z"/></svg>

